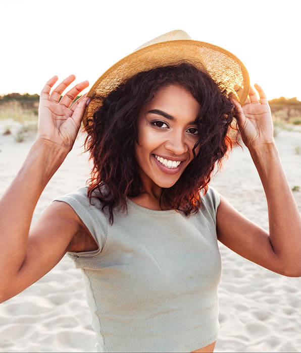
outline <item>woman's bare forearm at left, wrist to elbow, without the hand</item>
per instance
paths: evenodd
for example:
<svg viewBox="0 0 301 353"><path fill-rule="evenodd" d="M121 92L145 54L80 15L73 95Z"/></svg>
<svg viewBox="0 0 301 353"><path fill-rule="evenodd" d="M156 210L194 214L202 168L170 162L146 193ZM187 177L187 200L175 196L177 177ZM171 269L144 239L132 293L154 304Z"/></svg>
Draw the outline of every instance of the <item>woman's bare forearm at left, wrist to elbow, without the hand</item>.
<svg viewBox="0 0 301 353"><path fill-rule="evenodd" d="M0 201L1 281L6 282L20 270L25 259L28 233L36 203L48 181L68 151L36 141L12 184Z"/></svg>

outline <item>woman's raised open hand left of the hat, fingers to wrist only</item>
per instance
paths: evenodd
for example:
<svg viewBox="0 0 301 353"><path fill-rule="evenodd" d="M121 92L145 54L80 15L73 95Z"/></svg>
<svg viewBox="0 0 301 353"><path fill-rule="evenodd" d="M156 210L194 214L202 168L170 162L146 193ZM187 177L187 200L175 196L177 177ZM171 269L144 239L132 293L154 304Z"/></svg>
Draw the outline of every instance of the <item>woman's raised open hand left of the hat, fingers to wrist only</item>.
<svg viewBox="0 0 301 353"><path fill-rule="evenodd" d="M72 106L70 105L78 94L89 86L89 82L83 81L75 85L60 100L61 94L75 80L75 76L67 77L50 94L57 80L58 77L54 76L41 91L37 140L55 143L70 151L89 98L83 95Z"/></svg>

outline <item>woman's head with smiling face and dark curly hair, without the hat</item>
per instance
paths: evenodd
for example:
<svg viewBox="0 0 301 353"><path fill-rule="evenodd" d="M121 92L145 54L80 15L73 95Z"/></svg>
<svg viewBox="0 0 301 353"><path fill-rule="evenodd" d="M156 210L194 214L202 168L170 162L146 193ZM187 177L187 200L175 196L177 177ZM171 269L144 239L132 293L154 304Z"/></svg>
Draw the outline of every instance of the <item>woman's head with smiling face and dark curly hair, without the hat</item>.
<svg viewBox="0 0 301 353"><path fill-rule="evenodd" d="M224 89L184 61L132 76L103 97L86 128L89 196L97 189L111 221L128 197L140 204L152 195L150 208L196 212L199 190L208 190L215 163L237 142L233 107Z"/></svg>

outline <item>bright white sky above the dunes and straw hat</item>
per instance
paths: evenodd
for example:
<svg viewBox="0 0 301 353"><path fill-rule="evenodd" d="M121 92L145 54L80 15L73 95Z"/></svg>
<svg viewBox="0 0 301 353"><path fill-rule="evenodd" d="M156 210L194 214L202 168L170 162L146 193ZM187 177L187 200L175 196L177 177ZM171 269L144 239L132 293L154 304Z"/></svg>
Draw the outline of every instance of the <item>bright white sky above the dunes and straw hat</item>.
<svg viewBox="0 0 301 353"><path fill-rule="evenodd" d="M0 94L39 93L54 75L90 86L174 29L235 54L269 99L301 100L300 0L10 0L1 4ZM86 90L87 91L87 90ZM85 91L84 91L85 92Z"/></svg>

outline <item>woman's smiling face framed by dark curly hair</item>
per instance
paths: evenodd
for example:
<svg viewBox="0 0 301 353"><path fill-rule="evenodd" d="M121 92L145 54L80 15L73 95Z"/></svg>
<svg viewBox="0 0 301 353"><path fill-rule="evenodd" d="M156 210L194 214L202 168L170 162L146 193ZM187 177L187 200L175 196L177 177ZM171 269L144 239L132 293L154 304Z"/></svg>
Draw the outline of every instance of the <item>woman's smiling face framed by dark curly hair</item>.
<svg viewBox="0 0 301 353"><path fill-rule="evenodd" d="M193 159L200 105L180 85L157 91L138 116L135 155L144 187L170 188ZM197 154L198 149L195 149Z"/></svg>

